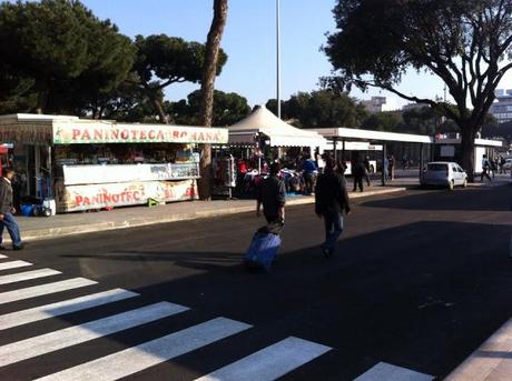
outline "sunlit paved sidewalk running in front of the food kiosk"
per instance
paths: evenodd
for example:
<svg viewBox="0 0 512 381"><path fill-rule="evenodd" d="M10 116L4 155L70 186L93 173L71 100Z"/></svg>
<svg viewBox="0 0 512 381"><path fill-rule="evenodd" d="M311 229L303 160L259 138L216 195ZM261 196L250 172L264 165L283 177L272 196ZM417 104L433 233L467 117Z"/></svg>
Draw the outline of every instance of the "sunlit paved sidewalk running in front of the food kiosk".
<svg viewBox="0 0 512 381"><path fill-rule="evenodd" d="M404 191L403 187L371 187L363 193L352 193L351 199ZM287 205L313 203L314 197L289 197ZM221 217L255 210L254 200L215 200L176 202L155 208L128 207L111 211L78 212L45 217L18 217L23 241L49 239L156 223ZM9 242L7 232L4 241Z"/></svg>

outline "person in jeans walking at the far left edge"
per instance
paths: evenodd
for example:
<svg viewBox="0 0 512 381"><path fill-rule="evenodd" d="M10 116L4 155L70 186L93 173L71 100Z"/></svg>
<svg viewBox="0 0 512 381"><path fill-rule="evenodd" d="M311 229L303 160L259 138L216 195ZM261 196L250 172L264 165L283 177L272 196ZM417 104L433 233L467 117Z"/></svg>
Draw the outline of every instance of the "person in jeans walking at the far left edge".
<svg viewBox="0 0 512 381"><path fill-rule="evenodd" d="M3 170L3 177L0 179L0 249L2 250L4 249L2 247L3 228L7 228L11 237L13 250L21 250L24 248L24 244L21 242L18 222L13 215L13 213L16 213L12 191L13 178L14 171L8 168Z"/></svg>

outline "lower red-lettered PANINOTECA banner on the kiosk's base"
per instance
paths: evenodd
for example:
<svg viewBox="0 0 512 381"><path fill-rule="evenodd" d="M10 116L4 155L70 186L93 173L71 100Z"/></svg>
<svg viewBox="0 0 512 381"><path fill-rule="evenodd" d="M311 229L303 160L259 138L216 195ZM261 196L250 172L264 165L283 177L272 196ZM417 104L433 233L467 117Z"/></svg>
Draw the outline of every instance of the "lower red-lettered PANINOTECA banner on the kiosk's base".
<svg viewBox="0 0 512 381"><path fill-rule="evenodd" d="M68 186L58 194L58 209L63 212L136 205L148 199L166 202L198 199L196 180Z"/></svg>

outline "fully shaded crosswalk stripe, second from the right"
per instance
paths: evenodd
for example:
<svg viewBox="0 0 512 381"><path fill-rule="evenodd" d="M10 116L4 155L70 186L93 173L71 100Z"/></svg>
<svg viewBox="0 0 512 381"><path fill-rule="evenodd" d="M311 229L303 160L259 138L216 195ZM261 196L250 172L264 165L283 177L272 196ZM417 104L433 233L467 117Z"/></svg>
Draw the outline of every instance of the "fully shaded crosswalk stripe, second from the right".
<svg viewBox="0 0 512 381"><path fill-rule="evenodd" d="M196 381L272 381L328 352L331 348L288 338Z"/></svg>

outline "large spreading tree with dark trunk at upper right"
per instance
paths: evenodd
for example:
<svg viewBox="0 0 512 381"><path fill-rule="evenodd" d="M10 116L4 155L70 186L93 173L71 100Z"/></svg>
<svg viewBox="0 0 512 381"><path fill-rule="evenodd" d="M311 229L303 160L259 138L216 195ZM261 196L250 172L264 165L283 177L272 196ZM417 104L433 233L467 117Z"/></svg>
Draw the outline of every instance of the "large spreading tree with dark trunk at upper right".
<svg viewBox="0 0 512 381"><path fill-rule="evenodd" d="M331 86L374 86L442 109L461 129L472 176L474 138L512 68L512 0L338 0L334 17L324 47L337 70ZM410 69L443 80L455 107L398 91Z"/></svg>

